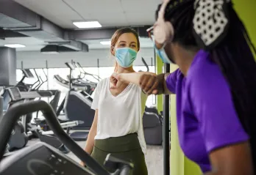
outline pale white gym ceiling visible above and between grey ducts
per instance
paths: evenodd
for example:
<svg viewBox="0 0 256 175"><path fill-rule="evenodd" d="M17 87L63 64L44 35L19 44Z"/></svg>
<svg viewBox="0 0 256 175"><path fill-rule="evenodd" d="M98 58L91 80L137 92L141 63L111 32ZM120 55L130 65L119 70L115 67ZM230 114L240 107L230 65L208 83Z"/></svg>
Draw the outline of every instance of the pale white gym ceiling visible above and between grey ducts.
<svg viewBox="0 0 256 175"><path fill-rule="evenodd" d="M38 13L63 29L75 29L74 21L99 21L102 28L115 26L143 26L154 23L154 12L162 0L14 0ZM109 48L102 40L80 40L89 49ZM140 38L141 48L152 48L149 38ZM0 39L0 46L22 44L26 48L17 51L40 51L46 42L34 37L10 37Z"/></svg>

